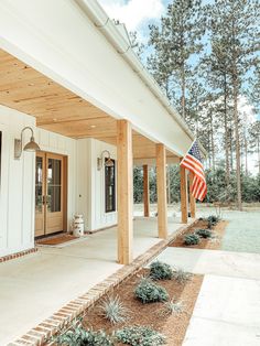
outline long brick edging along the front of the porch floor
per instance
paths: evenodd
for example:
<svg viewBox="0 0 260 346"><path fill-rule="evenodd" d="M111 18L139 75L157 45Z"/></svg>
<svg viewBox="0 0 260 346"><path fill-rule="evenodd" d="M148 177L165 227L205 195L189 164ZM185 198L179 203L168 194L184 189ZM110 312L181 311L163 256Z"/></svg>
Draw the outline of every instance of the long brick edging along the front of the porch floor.
<svg viewBox="0 0 260 346"><path fill-rule="evenodd" d="M192 227L197 219L192 224L180 227L172 236L166 240L161 240L148 251L140 255L129 266L123 266L115 273L109 275L102 282L96 284L85 294L78 296L77 299L71 301L65 306L59 309L51 317L40 323L36 327L32 328L25 335L18 338L15 342L8 344L8 346L41 346L46 345L46 339L55 335L61 328L68 326L68 324L75 318L84 314L84 312L94 305L102 295L107 294L111 289L116 288L123 280L133 275L143 266L148 264L153 258L158 257L170 242L172 242L185 229ZM52 344L52 343L51 343ZM48 344L48 345L51 345Z"/></svg>

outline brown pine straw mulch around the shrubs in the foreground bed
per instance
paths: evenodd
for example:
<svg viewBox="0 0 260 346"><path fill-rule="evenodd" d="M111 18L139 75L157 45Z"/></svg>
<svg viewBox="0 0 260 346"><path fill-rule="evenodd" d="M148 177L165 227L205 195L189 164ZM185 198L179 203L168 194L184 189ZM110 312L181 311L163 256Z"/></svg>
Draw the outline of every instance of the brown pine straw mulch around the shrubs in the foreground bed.
<svg viewBox="0 0 260 346"><path fill-rule="evenodd" d="M180 284L174 280L159 281L170 295L170 299L176 299L184 304L184 311L180 314L163 315L163 303L142 304L134 298L133 291L143 274L148 274L148 269L142 269L137 274L123 281L113 290L111 295L118 295L123 305L129 309L130 318L127 323L111 325L110 322L100 316L100 299L93 307L90 307L83 321L85 327L104 329L108 334L113 331L129 325L150 326L166 336L166 345L181 346L193 314L194 305L203 282L203 275L192 275L191 280L184 284ZM120 345L121 344L117 344Z"/></svg>

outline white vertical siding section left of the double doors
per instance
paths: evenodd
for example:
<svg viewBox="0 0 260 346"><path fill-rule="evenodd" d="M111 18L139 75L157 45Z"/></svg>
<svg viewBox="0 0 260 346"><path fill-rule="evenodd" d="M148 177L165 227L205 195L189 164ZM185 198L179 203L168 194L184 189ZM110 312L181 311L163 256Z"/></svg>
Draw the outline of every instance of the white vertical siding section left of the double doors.
<svg viewBox="0 0 260 346"><path fill-rule="evenodd" d="M13 141L23 127L34 127L32 117L0 106L2 162L0 190L1 256L33 247L34 228L34 155L24 152L13 159ZM30 132L25 133L29 140Z"/></svg>

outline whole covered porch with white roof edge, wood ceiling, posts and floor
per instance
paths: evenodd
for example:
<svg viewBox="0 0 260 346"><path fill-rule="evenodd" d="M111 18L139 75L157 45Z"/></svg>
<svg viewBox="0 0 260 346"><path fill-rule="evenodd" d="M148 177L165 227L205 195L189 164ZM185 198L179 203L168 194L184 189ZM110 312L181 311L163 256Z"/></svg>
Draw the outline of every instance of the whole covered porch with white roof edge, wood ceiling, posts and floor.
<svg viewBox="0 0 260 346"><path fill-rule="evenodd" d="M67 25L72 22L73 30ZM166 165L180 163L194 137L96 1L36 0L33 6L30 0L3 1L0 32L0 256L35 246L37 206L44 210L43 234L50 233L46 176L51 166L45 164L42 179L45 194L36 195L43 186L42 181L35 184L35 154L23 151L19 160L14 156L14 140L28 127L46 162L48 156L50 161L65 158L65 197L54 210L63 207L58 230L69 231L76 213L86 217L87 230L117 224L75 244L41 247L36 253L0 263L4 312L0 343L7 344L117 270L131 269L153 246L165 245L174 231L192 221L188 209L195 218L184 169L177 217L167 217L166 201ZM29 140L24 132L24 141ZM105 169L109 156L116 162L116 203L108 212ZM134 165L143 167L141 219L133 217ZM156 217L151 217L149 208L151 165L156 166ZM62 184L53 185L55 190ZM56 318L62 323L68 317L65 310ZM32 332L32 345L39 344L39 335L50 325L56 325L54 321Z"/></svg>

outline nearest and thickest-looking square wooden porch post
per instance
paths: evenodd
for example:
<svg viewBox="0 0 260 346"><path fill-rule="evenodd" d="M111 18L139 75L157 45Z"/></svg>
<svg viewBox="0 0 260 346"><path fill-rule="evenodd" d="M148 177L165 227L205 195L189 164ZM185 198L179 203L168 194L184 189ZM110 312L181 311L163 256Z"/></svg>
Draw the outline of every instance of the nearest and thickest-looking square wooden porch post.
<svg viewBox="0 0 260 346"><path fill-rule="evenodd" d="M133 187L132 187L132 129L127 120L117 121L118 154L118 261L132 261L133 238Z"/></svg>

